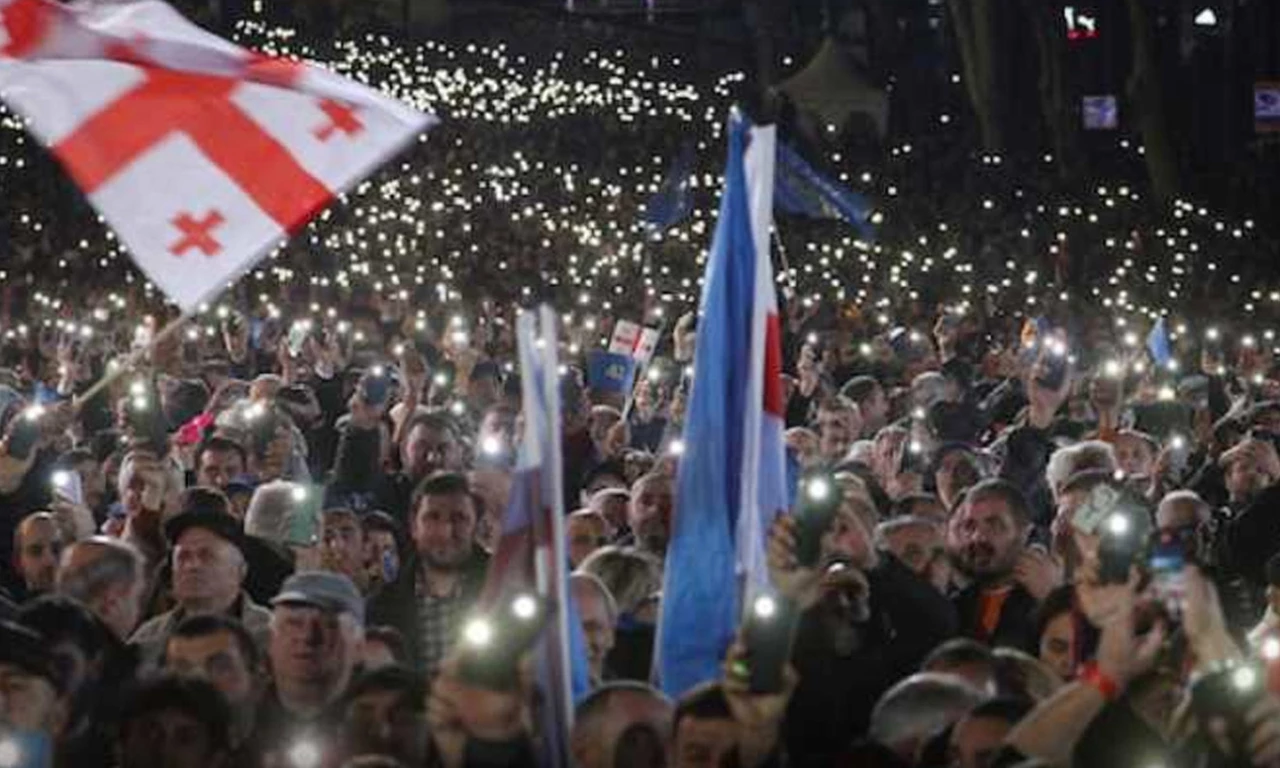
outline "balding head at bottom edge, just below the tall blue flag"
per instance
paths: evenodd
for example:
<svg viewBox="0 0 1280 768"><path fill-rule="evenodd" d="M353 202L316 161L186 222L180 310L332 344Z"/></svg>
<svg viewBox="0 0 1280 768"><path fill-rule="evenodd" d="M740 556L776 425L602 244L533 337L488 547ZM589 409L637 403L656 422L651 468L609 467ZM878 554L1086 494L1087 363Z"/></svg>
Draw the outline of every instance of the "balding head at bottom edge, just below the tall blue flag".
<svg viewBox="0 0 1280 768"><path fill-rule="evenodd" d="M577 708L570 749L577 768L669 764L675 707L657 689L613 682Z"/></svg>

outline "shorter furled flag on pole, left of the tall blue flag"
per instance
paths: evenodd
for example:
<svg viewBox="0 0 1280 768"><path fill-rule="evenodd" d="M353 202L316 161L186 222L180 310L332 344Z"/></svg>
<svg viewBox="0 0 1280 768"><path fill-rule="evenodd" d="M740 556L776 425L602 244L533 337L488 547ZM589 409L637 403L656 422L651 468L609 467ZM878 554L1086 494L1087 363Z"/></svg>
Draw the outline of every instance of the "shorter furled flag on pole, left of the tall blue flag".
<svg viewBox="0 0 1280 768"><path fill-rule="evenodd" d="M590 686L586 643L568 591L564 493L561 468L559 366L556 312L525 311L516 321L525 420L502 538L480 595L480 609L535 591L549 604L550 625L534 649L539 709L539 764L567 765L573 707Z"/></svg>

